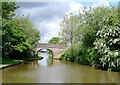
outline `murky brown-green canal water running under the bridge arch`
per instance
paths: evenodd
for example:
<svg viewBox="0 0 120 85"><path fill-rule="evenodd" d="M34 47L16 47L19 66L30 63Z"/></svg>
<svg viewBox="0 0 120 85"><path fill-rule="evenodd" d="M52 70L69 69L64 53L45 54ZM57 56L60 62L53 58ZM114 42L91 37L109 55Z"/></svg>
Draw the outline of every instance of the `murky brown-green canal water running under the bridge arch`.
<svg viewBox="0 0 120 85"><path fill-rule="evenodd" d="M3 83L118 83L118 72L52 59L41 53L43 60L26 62L2 70Z"/></svg>

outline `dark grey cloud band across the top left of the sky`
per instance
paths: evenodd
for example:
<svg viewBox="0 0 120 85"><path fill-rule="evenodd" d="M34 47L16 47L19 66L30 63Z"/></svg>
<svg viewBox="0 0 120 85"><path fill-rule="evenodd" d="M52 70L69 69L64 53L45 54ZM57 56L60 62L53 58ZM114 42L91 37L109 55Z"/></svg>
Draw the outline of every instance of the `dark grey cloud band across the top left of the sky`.
<svg viewBox="0 0 120 85"><path fill-rule="evenodd" d="M31 4L31 2L29 2ZM29 4L27 3L27 4ZM33 7L26 7L24 8L24 5L26 5L26 3L23 3L23 13L25 14L25 16L27 16L28 14L31 16L32 20L45 20L45 19L51 19L54 16L59 16L62 17L65 12L67 10L69 10L69 5L67 3L44 3L43 6L40 6L41 4L43 4L43 2L38 2L38 6L34 6L35 3L33 3ZM46 5L47 4L47 5ZM27 6L27 5L26 5Z"/></svg>

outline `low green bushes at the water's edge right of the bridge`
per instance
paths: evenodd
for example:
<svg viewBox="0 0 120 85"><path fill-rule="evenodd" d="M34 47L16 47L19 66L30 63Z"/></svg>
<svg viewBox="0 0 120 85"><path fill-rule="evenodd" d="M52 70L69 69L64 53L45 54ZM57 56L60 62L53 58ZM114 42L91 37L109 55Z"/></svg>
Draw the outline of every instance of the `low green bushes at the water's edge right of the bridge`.
<svg viewBox="0 0 120 85"><path fill-rule="evenodd" d="M80 45L79 47L78 45L72 45L59 59L96 66L100 64L99 58L101 58L101 56L94 47L88 48Z"/></svg>

